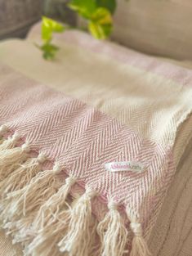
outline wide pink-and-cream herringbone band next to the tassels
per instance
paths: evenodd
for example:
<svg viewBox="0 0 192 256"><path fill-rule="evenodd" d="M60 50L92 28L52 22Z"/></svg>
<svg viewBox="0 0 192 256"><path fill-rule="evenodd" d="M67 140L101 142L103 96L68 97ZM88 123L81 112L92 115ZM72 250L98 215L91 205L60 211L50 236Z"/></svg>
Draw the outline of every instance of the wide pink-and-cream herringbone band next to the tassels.
<svg viewBox="0 0 192 256"><path fill-rule="evenodd" d="M0 96L0 124L7 124L33 150L44 152L67 174L99 191L105 201L113 197L131 205L140 213L145 230L150 227L174 172L168 145L165 148L146 140L118 119L11 71L1 82ZM105 170L105 163L129 160L145 164L146 171Z"/></svg>

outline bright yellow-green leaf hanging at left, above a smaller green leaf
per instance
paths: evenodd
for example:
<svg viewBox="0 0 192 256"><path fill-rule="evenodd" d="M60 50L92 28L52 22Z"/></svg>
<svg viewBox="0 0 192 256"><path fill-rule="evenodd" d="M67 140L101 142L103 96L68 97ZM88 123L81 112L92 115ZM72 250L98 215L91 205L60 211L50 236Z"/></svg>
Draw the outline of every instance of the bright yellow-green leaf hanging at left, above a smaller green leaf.
<svg viewBox="0 0 192 256"><path fill-rule="evenodd" d="M51 41L53 32L61 33L64 30L64 25L56 20L51 20L45 16L42 17L42 40Z"/></svg>

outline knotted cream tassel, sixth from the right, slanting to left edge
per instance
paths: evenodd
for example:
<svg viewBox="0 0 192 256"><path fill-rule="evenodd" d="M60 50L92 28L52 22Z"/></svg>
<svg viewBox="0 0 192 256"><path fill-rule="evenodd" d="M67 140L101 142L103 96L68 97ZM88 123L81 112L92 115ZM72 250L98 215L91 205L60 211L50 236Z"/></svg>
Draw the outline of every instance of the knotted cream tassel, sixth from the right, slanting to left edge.
<svg viewBox="0 0 192 256"><path fill-rule="evenodd" d="M5 197L7 193L20 190L29 184L32 177L42 170L45 161L46 156L40 153L38 158L27 159L24 164L20 164L11 175L0 182L0 195Z"/></svg>

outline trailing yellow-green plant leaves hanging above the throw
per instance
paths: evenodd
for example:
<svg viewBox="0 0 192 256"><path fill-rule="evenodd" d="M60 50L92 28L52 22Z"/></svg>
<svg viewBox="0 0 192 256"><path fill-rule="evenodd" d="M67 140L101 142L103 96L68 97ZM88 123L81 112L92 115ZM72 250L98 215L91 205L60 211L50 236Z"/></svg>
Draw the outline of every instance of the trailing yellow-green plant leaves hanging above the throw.
<svg viewBox="0 0 192 256"><path fill-rule="evenodd" d="M116 0L70 0L69 8L87 20L87 30L94 38L108 38L113 29L113 15L116 9ZM62 33L70 26L64 26L56 20L42 17L42 50L43 57L51 60L59 48L51 43L54 33Z"/></svg>

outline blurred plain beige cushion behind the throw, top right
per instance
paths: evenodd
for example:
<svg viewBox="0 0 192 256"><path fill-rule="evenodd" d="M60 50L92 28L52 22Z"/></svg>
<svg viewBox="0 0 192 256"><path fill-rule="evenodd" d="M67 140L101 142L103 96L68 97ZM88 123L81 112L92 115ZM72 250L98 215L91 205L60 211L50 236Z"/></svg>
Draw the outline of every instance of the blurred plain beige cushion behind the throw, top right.
<svg viewBox="0 0 192 256"><path fill-rule="evenodd" d="M192 60L192 1L118 0L113 38L140 52Z"/></svg>

